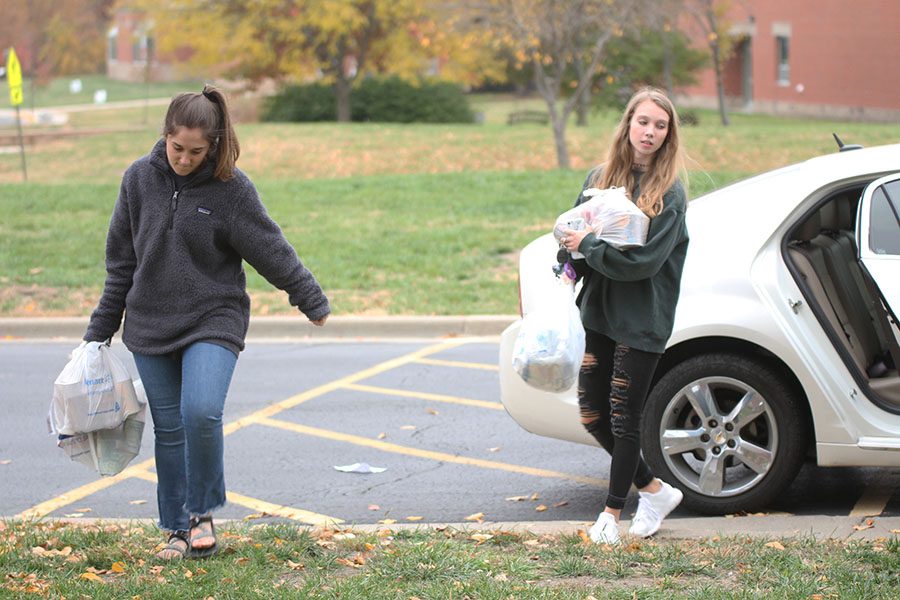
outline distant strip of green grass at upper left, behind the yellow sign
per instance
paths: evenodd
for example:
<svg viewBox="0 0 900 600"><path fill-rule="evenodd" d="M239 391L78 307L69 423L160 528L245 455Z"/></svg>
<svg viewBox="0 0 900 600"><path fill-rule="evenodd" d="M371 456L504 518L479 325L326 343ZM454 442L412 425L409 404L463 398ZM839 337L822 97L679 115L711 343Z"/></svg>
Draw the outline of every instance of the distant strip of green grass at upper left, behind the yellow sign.
<svg viewBox="0 0 900 600"><path fill-rule="evenodd" d="M81 80L81 91L73 94L69 91L69 83L73 79ZM45 85L32 87L30 78L22 82L25 94L21 108L44 108L49 106L63 106L69 104L92 104L94 92L106 90L107 102L119 102L123 100L143 100L144 98L169 98L177 92L187 89L200 89L201 83L196 81L178 81L169 83L132 83L128 81L115 81L105 75L73 75L72 77L60 77L51 80ZM4 93L0 94L0 109L11 108L9 94L6 93L6 84L3 84Z"/></svg>

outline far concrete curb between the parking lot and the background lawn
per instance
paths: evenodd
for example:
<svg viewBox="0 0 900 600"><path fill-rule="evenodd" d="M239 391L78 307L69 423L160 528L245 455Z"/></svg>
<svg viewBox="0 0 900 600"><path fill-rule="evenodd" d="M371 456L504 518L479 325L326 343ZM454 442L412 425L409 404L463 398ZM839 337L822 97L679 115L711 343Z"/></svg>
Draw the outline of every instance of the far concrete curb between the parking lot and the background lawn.
<svg viewBox="0 0 900 600"><path fill-rule="evenodd" d="M518 317L513 315L468 316L335 316L324 327L315 327L302 315L251 317L248 339L296 340L302 338L447 338L500 335ZM0 340L80 340L87 317L0 318Z"/></svg>

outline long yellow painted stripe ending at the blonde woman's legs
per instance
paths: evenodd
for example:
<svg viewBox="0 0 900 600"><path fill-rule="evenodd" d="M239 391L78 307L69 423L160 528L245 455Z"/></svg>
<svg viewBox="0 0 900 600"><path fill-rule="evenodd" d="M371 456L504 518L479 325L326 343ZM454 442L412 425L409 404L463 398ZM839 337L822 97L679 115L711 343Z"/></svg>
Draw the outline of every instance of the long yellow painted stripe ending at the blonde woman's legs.
<svg viewBox="0 0 900 600"><path fill-rule="evenodd" d="M578 483L586 483L588 485L595 485L605 487L609 484L609 482L605 479L596 479L594 477L584 477L582 475L572 475L569 473L561 473L559 471L550 471L548 469L538 469L535 467L525 467L522 465L513 465L509 463L502 463L493 460L484 460L481 458L469 458L466 456L457 456L455 454L447 454L445 452L434 452L432 450L422 450L420 448L410 448L409 446L401 446L399 444L392 444L390 442L383 442L381 440L372 440L369 438L365 438L358 435L352 435L349 433L341 433L338 431L330 431L328 429L319 429L318 427L310 427L308 425L300 425L299 423L290 423L288 421L282 421L279 419L270 419L267 417L263 417L257 419L257 422L260 425L266 425L269 427L277 427L278 429L284 429L286 431L292 431L294 433L300 433L303 435L311 435L315 437L324 438L327 440L337 441L337 442L346 442L348 444L355 444L357 446L366 446L368 448L374 448L376 450L382 450L384 452L393 452L395 454L403 454L406 456L415 456L417 458L427 458L429 460L436 460L439 462L448 462L455 463L459 465L467 465L470 467L480 467L482 469L496 469L498 471L507 471L509 473L519 473L521 475L534 475L536 477L553 477L557 479L568 479L570 481L577 481Z"/></svg>

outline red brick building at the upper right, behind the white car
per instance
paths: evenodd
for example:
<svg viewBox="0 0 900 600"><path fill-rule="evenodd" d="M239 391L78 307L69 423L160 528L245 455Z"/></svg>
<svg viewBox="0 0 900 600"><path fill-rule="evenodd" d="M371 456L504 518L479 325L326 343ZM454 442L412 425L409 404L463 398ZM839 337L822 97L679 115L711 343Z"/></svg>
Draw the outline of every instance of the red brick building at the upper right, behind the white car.
<svg viewBox="0 0 900 600"><path fill-rule="evenodd" d="M900 0L740 0L724 69L730 110L900 120ZM698 31L696 44L706 47ZM713 70L681 102L717 106Z"/></svg>

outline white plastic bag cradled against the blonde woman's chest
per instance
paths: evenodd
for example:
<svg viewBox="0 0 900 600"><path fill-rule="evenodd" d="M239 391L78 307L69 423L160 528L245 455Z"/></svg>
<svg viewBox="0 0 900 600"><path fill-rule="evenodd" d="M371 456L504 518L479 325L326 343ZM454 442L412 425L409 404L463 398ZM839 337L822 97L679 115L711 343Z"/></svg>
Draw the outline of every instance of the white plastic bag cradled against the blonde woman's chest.
<svg viewBox="0 0 900 600"><path fill-rule="evenodd" d="M565 229L578 231L589 227L594 235L619 250L644 245L650 218L628 199L625 188L588 188L582 194L590 200L567 210L556 219L553 236L557 241ZM584 255L573 252L572 258L584 258Z"/></svg>

